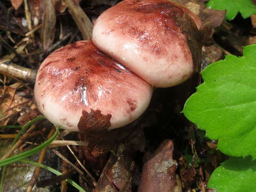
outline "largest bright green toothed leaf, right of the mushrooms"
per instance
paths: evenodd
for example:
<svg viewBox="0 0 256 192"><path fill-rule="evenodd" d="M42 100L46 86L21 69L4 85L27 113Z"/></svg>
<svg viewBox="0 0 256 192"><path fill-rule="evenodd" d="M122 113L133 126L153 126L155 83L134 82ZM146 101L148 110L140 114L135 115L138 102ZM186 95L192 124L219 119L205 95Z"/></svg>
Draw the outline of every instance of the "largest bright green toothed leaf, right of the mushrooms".
<svg viewBox="0 0 256 192"><path fill-rule="evenodd" d="M256 44L243 57L228 55L202 72L204 83L185 103L183 113L218 148L231 156L256 158Z"/></svg>

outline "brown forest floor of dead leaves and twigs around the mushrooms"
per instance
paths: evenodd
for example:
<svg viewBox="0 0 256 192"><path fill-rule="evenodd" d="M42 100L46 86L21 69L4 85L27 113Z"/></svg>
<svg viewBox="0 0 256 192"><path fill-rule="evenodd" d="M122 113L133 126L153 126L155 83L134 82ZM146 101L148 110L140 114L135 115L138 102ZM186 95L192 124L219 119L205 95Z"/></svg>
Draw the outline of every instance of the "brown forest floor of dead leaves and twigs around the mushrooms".
<svg viewBox="0 0 256 192"><path fill-rule="evenodd" d="M201 70L225 55L242 56L243 46L256 43L255 15L243 19L238 14L227 21L225 11L207 9L206 1L176 1L214 26L215 43L203 47ZM33 149L52 137L53 124L38 119L12 145L21 127L42 115L34 103L36 71L54 50L90 38L92 23L118 2L0 2L0 157ZM197 73L181 85L156 89L146 112L125 127L133 132L108 153L86 148L78 132L60 130L47 150L38 150L27 159L63 174L57 177L45 169L35 171L34 165L17 161L7 165L5 171L0 167L0 191L78 191L67 184L67 178L85 191L137 191L140 185L156 191L162 183L168 184L166 191L213 191L206 187L207 181L227 157L217 150L217 140L207 139L205 132L196 129L181 113L201 82ZM154 173L155 166L165 169L166 174L151 177L148 170Z"/></svg>

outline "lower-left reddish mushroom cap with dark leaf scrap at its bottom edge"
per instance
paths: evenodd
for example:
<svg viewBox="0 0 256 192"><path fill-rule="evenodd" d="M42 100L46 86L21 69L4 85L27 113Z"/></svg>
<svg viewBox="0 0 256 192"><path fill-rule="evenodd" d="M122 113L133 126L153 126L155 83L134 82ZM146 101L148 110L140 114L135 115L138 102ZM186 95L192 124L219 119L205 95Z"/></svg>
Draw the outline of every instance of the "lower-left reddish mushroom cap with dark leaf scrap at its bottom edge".
<svg viewBox="0 0 256 192"><path fill-rule="evenodd" d="M82 111L111 115L109 130L131 123L149 105L153 88L91 41L69 44L40 66L34 97L38 109L56 125L78 131Z"/></svg>

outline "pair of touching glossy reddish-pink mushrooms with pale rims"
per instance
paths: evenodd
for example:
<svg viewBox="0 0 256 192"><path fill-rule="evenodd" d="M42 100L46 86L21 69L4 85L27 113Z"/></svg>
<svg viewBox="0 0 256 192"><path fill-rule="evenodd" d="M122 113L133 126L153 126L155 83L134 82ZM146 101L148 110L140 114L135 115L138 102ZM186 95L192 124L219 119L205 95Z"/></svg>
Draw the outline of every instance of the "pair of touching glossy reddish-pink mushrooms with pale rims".
<svg viewBox="0 0 256 192"><path fill-rule="evenodd" d="M105 117L110 124L102 129L129 124L149 105L151 85L174 86L194 73L204 41L202 22L179 4L122 1L100 15L92 41L67 45L44 60L35 83L38 109L74 131Z"/></svg>

